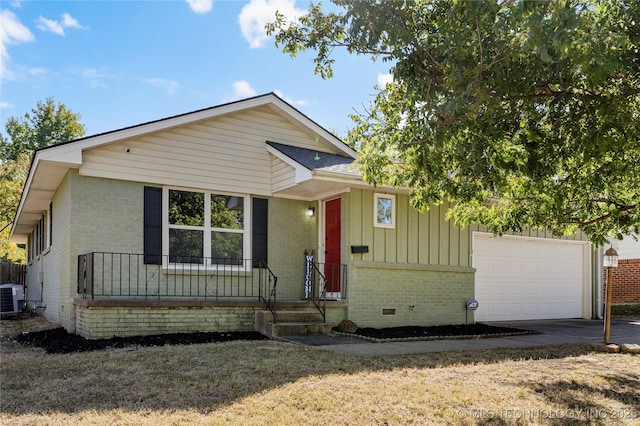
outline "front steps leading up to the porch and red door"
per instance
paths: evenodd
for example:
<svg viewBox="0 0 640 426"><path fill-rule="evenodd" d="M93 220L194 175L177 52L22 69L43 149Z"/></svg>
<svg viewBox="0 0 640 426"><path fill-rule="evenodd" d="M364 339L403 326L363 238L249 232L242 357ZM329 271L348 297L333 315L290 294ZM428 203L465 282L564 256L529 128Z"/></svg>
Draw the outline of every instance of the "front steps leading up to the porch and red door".
<svg viewBox="0 0 640 426"><path fill-rule="evenodd" d="M329 334L331 324L322 321L322 314L311 309L276 311L276 323L268 310L256 311L256 331L267 337Z"/></svg>

